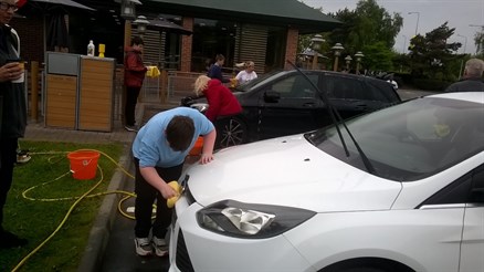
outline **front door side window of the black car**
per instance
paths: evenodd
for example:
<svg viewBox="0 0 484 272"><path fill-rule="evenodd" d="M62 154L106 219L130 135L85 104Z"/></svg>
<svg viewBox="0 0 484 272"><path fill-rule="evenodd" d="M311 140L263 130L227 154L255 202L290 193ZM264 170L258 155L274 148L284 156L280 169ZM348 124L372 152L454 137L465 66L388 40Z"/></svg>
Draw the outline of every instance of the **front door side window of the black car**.
<svg viewBox="0 0 484 272"><path fill-rule="evenodd" d="M309 74L309 80L317 85L318 75ZM312 84L301 74L285 77L271 86L270 90L276 91L284 98L306 98L315 97L316 91Z"/></svg>

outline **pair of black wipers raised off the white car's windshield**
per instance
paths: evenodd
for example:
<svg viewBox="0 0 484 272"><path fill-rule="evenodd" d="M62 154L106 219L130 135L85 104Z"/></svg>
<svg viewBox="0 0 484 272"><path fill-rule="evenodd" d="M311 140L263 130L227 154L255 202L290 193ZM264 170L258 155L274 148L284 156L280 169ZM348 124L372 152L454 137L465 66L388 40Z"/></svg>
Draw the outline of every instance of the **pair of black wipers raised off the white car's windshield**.
<svg viewBox="0 0 484 272"><path fill-rule="evenodd" d="M314 84L311 79L303 73L303 71L301 71L299 67L297 67L296 65L294 65L294 63L292 63L291 61L287 61L299 74L302 74L304 76L304 79L309 82L309 84L318 92L320 98L323 100L323 102L326 104L326 109L328 111L329 117L333 121L333 124L336 127L336 132L338 132L338 136L339 139L341 140L341 145L343 148L345 149L345 154L346 157L349 157L349 151L348 151L348 147L346 146L346 142L345 138L341 135L341 130L339 129L339 125L341 124L345 127L345 130L348 133L349 137L351 138L353 144L355 145L356 149L358 150L359 156L361 157L361 160L365 165L365 167L367 168L367 171L369 174L376 174L375 167L371 165L370 160L368 159L368 157L365 155L364 150L361 149L361 147L358 145L358 142L355 139L355 137L353 136L353 134L349 132L349 128L346 126L345 121L341 118L341 115L339 115L338 109L336 109L336 107L333 106L332 103L329 103L329 98L327 96L326 93L322 92L319 90L318 86L316 86L316 84Z"/></svg>

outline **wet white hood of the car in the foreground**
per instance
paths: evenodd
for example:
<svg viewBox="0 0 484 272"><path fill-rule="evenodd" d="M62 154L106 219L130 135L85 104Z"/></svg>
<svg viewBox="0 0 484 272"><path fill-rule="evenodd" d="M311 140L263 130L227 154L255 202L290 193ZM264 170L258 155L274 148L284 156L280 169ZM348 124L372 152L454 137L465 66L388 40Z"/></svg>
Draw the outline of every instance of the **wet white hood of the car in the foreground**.
<svg viewBox="0 0 484 272"><path fill-rule="evenodd" d="M400 182L347 165L303 135L235 146L214 157L186 171L190 192L202 206L232 199L317 212L386 210L401 190Z"/></svg>

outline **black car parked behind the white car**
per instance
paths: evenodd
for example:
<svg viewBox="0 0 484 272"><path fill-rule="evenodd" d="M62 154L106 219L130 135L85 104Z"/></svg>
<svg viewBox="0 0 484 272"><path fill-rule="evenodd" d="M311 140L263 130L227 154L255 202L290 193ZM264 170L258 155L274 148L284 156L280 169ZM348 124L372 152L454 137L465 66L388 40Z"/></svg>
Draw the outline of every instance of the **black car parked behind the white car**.
<svg viewBox="0 0 484 272"><path fill-rule="evenodd" d="M304 73L344 118L401 101L392 85L382 80L329 71ZM234 94L243 113L218 132L225 147L305 133L332 123L322 94L296 70L264 74L236 87ZM201 102L183 98L181 104L200 106Z"/></svg>

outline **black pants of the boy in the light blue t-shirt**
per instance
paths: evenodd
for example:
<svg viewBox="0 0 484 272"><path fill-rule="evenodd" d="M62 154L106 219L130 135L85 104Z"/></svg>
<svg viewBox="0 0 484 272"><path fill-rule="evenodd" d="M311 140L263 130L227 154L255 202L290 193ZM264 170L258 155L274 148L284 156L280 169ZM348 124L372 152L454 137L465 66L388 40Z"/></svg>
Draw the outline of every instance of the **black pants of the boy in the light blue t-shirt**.
<svg viewBox="0 0 484 272"><path fill-rule="evenodd" d="M167 228L171 223L172 209L167 207L167 200L155 189L139 172L139 159L135 158L136 180L135 180L135 236L147 238L152 228L152 236L165 238ZM158 175L167 182L178 180L181 176L183 164L169 168L156 167ZM156 199L156 219L151 222L152 203Z"/></svg>

